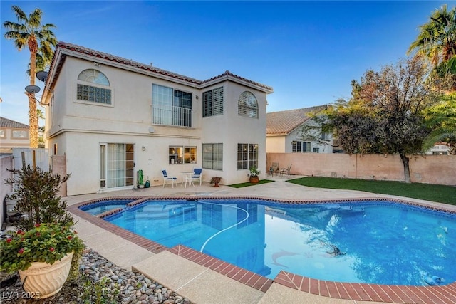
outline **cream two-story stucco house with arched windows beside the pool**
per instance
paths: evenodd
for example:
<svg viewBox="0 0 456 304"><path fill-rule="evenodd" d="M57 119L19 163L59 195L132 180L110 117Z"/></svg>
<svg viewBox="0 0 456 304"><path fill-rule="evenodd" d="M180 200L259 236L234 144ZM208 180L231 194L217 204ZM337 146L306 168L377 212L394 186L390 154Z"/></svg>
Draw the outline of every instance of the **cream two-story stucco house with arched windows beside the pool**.
<svg viewBox="0 0 456 304"><path fill-rule="evenodd" d="M203 169L202 179L247 182L266 166L266 95L272 88L230 73L197 80L71 43L48 71L46 145L66 155L67 195L150 184L162 169ZM169 186L171 187L171 186Z"/></svg>

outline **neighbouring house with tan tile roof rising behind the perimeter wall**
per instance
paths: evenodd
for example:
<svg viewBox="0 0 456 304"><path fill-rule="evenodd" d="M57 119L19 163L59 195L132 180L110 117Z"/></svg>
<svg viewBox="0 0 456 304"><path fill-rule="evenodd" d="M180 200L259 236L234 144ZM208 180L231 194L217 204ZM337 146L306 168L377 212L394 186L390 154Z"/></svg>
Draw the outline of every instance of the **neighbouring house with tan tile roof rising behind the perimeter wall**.
<svg viewBox="0 0 456 304"><path fill-rule="evenodd" d="M266 115L266 152L267 153L333 153L333 137L326 132L315 132L317 140L303 139L302 127L312 123L309 113L318 113L326 108L319 105ZM318 126L319 127L319 126Z"/></svg>

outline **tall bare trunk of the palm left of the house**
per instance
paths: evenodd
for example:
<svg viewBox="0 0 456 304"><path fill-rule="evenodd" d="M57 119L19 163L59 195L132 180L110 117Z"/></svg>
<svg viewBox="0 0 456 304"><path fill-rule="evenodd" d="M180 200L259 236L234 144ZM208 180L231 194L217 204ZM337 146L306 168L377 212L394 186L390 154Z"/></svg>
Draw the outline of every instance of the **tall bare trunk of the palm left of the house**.
<svg viewBox="0 0 456 304"><path fill-rule="evenodd" d="M38 52L38 42L34 36L28 39L28 50L30 51L30 85L35 85L36 75L36 52ZM34 93L26 93L28 96L28 125L30 129L30 147L38 147L38 113L36 112L36 98Z"/></svg>

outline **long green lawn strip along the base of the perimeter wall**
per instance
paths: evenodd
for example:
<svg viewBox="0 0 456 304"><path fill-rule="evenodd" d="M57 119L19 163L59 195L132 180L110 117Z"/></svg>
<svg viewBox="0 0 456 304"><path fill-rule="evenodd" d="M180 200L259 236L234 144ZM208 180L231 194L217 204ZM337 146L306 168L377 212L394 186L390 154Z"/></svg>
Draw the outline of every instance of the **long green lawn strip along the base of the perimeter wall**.
<svg viewBox="0 0 456 304"><path fill-rule="evenodd" d="M403 182L339 179L331 177L303 177L300 179L290 179L287 182L317 188L348 189L379 194L391 194L456 205L456 187L440 184L405 184Z"/></svg>

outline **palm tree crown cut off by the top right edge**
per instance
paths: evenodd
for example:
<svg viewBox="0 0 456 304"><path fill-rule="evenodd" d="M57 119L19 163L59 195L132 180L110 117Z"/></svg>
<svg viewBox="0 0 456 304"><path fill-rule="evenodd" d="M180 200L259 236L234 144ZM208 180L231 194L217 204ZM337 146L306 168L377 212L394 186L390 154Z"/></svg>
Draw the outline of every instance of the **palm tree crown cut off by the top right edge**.
<svg viewBox="0 0 456 304"><path fill-rule="evenodd" d="M420 33L408 48L407 54L425 56L440 76L452 75L456 90L456 6L448 11L447 4L430 16L430 21L420 26Z"/></svg>

